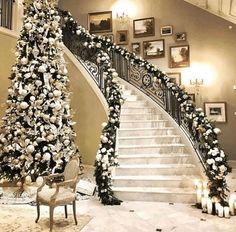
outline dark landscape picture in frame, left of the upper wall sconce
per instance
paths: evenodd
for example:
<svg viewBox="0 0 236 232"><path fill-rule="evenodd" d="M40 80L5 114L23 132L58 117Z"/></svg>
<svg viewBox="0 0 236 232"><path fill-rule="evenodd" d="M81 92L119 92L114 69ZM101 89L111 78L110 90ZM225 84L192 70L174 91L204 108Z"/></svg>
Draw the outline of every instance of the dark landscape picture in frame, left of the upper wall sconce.
<svg viewBox="0 0 236 232"><path fill-rule="evenodd" d="M88 30L90 33L112 32L112 11L89 13Z"/></svg>

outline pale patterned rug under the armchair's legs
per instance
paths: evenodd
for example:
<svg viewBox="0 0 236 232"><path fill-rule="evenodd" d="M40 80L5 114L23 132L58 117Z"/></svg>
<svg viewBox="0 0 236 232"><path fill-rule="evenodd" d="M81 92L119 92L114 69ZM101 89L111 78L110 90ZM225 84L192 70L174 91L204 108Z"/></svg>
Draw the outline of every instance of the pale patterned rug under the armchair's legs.
<svg viewBox="0 0 236 232"><path fill-rule="evenodd" d="M0 230L4 232L43 232L49 231L49 207L40 208L41 216L38 223L36 207L29 205L0 205ZM54 211L53 231L81 231L92 219L89 215L77 213L78 225L75 225L72 209L68 207L68 218L65 218L64 207L57 207Z"/></svg>

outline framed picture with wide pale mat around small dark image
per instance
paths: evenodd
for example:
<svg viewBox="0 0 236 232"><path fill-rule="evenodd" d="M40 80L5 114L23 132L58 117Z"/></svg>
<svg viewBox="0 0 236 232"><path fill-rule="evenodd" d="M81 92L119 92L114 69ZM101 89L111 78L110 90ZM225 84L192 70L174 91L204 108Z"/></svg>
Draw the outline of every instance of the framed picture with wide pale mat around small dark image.
<svg viewBox="0 0 236 232"><path fill-rule="evenodd" d="M214 122L226 122L226 102L205 102L207 118Z"/></svg>

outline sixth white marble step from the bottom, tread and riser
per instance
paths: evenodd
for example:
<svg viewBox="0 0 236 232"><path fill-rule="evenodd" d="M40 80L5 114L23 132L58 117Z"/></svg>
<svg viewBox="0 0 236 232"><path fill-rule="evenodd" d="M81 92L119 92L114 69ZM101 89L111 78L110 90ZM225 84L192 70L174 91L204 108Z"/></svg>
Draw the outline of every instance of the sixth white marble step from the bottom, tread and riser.
<svg viewBox="0 0 236 232"><path fill-rule="evenodd" d="M154 143L179 143L179 135L159 135L159 136L129 136L119 137L119 145L141 145Z"/></svg>

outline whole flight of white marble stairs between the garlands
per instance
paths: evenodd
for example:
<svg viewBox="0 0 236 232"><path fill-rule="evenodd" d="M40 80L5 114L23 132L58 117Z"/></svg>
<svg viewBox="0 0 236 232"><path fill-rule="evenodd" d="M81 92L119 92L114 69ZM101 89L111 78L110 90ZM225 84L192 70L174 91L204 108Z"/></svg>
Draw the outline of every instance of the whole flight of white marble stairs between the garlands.
<svg viewBox="0 0 236 232"><path fill-rule="evenodd" d="M125 103L117 136L120 165L113 191L125 201L195 203L199 168L179 130L138 90L124 86Z"/></svg>

